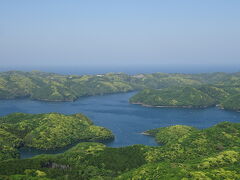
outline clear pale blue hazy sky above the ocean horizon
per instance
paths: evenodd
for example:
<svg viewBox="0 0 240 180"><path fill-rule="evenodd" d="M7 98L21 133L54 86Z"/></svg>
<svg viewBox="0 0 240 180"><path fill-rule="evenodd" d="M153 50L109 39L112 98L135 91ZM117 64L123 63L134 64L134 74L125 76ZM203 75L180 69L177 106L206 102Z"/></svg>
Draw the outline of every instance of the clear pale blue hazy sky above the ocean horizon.
<svg viewBox="0 0 240 180"><path fill-rule="evenodd" d="M1 0L1 67L240 67L239 0Z"/></svg>

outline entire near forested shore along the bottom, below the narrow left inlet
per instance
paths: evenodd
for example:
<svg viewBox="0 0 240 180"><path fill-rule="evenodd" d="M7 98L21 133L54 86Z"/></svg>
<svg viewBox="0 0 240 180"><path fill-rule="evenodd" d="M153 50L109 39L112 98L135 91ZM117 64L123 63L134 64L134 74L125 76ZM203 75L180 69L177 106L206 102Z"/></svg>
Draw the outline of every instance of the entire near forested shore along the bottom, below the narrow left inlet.
<svg viewBox="0 0 240 180"><path fill-rule="evenodd" d="M161 146L79 143L57 155L0 162L0 179L240 179L240 123L176 125L145 132Z"/></svg>

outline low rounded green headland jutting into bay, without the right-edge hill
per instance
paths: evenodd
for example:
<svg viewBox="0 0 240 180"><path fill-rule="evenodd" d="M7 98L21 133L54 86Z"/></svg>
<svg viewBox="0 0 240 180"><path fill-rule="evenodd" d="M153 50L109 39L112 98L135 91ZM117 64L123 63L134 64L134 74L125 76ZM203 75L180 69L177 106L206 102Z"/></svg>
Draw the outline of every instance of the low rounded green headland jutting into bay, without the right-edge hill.
<svg viewBox="0 0 240 180"><path fill-rule="evenodd" d="M207 94L193 87L145 89L130 99L131 103L151 106L206 107L215 104Z"/></svg>

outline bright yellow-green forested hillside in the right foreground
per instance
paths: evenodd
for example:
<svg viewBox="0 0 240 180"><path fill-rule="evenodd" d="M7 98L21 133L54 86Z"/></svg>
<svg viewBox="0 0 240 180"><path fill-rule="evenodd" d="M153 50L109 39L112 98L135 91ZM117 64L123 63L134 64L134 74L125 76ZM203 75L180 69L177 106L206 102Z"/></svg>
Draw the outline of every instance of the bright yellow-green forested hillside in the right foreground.
<svg viewBox="0 0 240 180"><path fill-rule="evenodd" d="M240 124L223 122L204 130L178 125L149 130L146 134L164 145L149 148L147 164L116 179L240 178Z"/></svg>

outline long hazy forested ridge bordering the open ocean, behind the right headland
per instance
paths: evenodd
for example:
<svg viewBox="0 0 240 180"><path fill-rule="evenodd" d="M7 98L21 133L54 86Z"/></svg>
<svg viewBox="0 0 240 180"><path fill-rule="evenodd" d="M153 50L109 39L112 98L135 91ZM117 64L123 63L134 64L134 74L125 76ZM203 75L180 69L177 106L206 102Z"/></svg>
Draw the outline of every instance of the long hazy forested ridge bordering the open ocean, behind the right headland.
<svg viewBox="0 0 240 180"><path fill-rule="evenodd" d="M240 87L240 73L59 75L44 72L0 73L0 99L29 97L43 101L73 101L81 96L127 92L144 88L167 88L211 84Z"/></svg>

